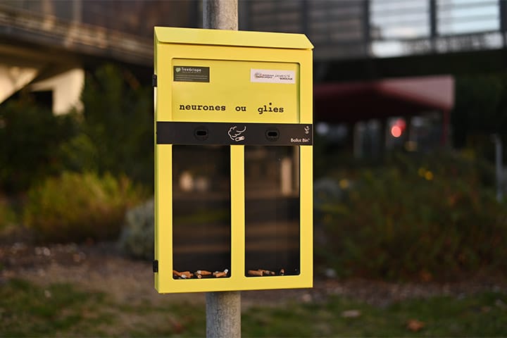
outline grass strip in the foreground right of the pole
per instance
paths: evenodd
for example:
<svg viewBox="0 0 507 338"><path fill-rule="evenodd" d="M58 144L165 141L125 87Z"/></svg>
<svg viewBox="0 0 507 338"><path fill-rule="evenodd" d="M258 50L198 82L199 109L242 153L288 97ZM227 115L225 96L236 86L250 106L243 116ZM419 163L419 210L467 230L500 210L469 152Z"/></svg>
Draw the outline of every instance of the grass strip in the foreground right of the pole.
<svg viewBox="0 0 507 338"><path fill-rule="evenodd" d="M439 296L385 308L332 297L323 304L251 308L243 317L243 332L244 337L506 337L506 296ZM350 310L358 316L344 318ZM411 320L424 327L409 330Z"/></svg>

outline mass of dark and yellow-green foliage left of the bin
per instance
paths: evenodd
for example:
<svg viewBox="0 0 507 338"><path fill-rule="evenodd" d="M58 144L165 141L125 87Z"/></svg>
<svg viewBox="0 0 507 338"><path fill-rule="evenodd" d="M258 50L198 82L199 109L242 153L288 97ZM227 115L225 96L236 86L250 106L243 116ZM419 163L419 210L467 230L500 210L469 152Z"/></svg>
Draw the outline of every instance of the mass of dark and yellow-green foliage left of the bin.
<svg viewBox="0 0 507 338"><path fill-rule="evenodd" d="M29 92L2 104L0 195L25 204L25 223L46 240L117 236L143 196L132 184L153 189L151 90L106 64L87 74L81 113L53 115ZM1 204L0 223L15 219L10 206Z"/></svg>

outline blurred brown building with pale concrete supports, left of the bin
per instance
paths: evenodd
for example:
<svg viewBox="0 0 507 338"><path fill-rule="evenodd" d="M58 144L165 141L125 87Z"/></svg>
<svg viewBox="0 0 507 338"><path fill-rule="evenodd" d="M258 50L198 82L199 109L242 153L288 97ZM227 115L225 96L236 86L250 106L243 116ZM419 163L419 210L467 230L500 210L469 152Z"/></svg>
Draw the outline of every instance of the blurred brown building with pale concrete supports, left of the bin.
<svg viewBox="0 0 507 338"><path fill-rule="evenodd" d="M80 108L84 69L104 61L151 73L154 25L197 27L196 1L2 0L0 103L51 92L54 113Z"/></svg>

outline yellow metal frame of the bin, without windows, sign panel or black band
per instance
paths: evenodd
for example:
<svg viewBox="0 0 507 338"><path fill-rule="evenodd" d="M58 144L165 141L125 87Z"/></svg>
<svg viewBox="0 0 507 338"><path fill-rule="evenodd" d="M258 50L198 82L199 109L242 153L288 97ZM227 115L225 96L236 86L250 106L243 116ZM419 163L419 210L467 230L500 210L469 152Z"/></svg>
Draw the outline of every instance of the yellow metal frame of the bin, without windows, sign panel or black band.
<svg viewBox="0 0 507 338"><path fill-rule="evenodd" d="M312 123L312 48L304 35L266 32L237 32L155 27L154 70L155 123L237 122L230 118L202 120L194 116L175 120L173 107L173 59L203 61L250 61L252 63L295 63L299 65L299 115L287 120L282 114L270 123ZM208 114L209 116L209 114ZM200 120L199 120L200 118ZM263 123L264 117L242 120ZM246 277L245 270L245 191L244 146L230 146L231 165L231 275L227 278L173 279L173 165L172 145L155 146L155 287L161 293L217 292L250 289L287 289L313 285L313 161L312 146L300 148L300 274Z"/></svg>

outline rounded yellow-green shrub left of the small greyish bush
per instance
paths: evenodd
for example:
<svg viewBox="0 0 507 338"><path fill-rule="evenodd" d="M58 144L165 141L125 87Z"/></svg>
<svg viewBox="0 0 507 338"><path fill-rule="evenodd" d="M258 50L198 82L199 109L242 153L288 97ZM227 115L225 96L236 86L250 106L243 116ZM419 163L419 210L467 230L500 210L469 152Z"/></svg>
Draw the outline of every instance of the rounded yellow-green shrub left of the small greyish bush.
<svg viewBox="0 0 507 338"><path fill-rule="evenodd" d="M112 239L127 207L138 200L139 192L127 177L63 173L30 189L24 220L48 241Z"/></svg>

